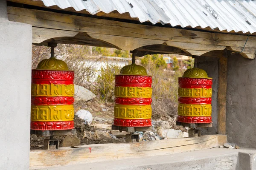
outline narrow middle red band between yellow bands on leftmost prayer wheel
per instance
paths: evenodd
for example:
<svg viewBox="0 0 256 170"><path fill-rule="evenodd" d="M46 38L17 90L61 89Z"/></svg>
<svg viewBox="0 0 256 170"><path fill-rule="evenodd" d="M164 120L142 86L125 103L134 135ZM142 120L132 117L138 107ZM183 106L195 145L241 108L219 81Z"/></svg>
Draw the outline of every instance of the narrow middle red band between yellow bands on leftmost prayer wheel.
<svg viewBox="0 0 256 170"><path fill-rule="evenodd" d="M31 105L72 105L74 101L74 97L38 96L31 98Z"/></svg>

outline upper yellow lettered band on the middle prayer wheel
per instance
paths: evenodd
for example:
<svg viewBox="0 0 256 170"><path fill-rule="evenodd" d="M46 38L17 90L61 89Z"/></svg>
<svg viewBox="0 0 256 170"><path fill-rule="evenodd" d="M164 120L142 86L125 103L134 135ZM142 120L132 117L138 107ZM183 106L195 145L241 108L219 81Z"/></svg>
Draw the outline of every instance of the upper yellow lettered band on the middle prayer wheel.
<svg viewBox="0 0 256 170"><path fill-rule="evenodd" d="M152 88L149 87L115 87L116 97L151 98Z"/></svg>

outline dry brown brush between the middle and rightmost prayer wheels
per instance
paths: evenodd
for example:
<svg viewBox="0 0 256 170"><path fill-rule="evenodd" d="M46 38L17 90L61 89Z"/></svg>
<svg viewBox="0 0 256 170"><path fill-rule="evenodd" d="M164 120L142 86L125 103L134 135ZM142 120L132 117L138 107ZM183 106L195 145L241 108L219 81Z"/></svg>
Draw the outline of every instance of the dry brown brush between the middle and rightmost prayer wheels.
<svg viewBox="0 0 256 170"><path fill-rule="evenodd" d="M152 76L152 119L170 121L177 115L178 77L183 72L156 68L145 65L148 75Z"/></svg>

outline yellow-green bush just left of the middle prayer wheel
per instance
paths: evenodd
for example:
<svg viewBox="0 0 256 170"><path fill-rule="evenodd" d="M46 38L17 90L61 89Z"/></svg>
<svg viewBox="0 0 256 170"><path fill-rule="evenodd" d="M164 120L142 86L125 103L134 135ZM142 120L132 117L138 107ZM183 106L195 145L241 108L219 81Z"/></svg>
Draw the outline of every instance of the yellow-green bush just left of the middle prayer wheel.
<svg viewBox="0 0 256 170"><path fill-rule="evenodd" d="M100 68L94 91L100 100L114 102L115 75L119 74L120 70L120 66L108 63Z"/></svg>

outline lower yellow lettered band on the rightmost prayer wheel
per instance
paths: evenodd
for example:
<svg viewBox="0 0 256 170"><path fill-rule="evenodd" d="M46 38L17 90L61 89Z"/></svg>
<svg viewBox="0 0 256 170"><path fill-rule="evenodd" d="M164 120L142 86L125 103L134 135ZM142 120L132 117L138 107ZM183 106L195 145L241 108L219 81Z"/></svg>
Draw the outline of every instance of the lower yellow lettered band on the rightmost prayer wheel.
<svg viewBox="0 0 256 170"><path fill-rule="evenodd" d="M180 116L211 116L212 105L191 105L181 104L178 105L178 115Z"/></svg>

